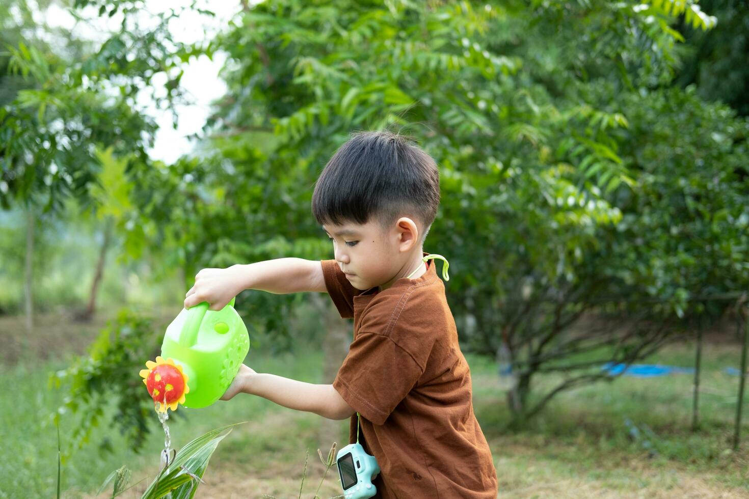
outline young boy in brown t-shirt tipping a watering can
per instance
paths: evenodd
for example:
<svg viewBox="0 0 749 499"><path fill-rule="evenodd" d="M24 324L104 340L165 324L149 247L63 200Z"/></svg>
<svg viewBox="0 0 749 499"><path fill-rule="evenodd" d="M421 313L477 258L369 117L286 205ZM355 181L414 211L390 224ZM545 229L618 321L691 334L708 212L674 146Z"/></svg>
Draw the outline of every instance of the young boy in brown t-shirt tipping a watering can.
<svg viewBox="0 0 749 499"><path fill-rule="evenodd" d="M334 420L375 456L381 498L496 498L491 451L473 414L468 364L434 260L422 244L440 203L439 173L422 149L391 132L361 132L325 166L312 212L335 260L282 258L203 269L185 307L220 310L241 290L329 293L354 342L332 385L242 365L239 392Z"/></svg>

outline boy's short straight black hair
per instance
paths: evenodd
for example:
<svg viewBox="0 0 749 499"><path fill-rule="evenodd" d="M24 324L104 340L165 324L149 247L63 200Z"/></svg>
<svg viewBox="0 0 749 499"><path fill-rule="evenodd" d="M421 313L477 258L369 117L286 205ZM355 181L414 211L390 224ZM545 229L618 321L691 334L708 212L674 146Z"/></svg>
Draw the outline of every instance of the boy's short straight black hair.
<svg viewBox="0 0 749 499"><path fill-rule="evenodd" d="M355 132L327 162L312 194L319 224L366 224L383 229L399 216L423 224L424 241L440 206L437 164L410 138L389 131Z"/></svg>

